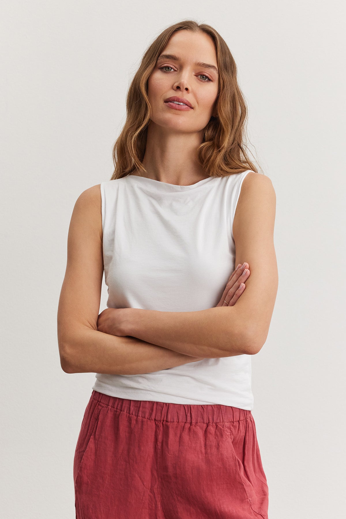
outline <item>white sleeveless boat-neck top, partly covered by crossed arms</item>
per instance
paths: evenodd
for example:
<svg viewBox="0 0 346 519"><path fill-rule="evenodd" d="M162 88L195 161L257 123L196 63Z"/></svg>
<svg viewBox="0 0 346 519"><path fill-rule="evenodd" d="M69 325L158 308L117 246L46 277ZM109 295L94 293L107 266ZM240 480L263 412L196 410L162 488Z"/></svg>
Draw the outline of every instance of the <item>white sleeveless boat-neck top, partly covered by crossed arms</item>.
<svg viewBox="0 0 346 519"><path fill-rule="evenodd" d="M249 171L189 186L136 175L102 182L107 307L189 312L216 306L235 268L233 218ZM114 397L253 408L251 355L95 376L92 389Z"/></svg>

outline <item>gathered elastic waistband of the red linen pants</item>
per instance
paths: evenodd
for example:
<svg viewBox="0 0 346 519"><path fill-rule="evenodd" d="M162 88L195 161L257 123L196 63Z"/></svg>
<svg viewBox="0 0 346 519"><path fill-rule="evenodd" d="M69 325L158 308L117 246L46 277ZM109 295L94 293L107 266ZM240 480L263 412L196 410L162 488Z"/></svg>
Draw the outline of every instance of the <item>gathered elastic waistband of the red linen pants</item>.
<svg viewBox="0 0 346 519"><path fill-rule="evenodd" d="M150 400L129 400L111 397L92 390L91 398L118 411L150 420L184 422L186 424L227 423L252 419L249 409L240 409L223 404L192 405L154 402Z"/></svg>

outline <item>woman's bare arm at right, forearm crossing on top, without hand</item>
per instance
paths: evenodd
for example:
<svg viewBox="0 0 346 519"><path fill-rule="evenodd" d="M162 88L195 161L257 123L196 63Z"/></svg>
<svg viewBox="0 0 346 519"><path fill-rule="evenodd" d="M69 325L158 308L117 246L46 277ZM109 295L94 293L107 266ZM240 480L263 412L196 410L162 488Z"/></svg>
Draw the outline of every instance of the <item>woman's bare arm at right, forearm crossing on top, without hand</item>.
<svg viewBox="0 0 346 519"><path fill-rule="evenodd" d="M194 312L120 309L122 334L201 358L258 353L267 339L278 291L275 206L269 177L247 173L234 215L233 236L235 264L247 262L251 275L234 306Z"/></svg>

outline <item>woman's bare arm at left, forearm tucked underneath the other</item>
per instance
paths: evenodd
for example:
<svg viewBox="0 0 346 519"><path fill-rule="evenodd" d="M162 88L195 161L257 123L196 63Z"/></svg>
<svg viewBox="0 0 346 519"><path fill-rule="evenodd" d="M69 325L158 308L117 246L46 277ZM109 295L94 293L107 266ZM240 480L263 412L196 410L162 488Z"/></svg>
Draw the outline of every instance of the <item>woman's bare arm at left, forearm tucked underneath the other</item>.
<svg viewBox="0 0 346 519"><path fill-rule="evenodd" d="M135 337L99 332L103 278L100 184L77 199L67 238L58 306L58 345L65 373L137 375L200 360Z"/></svg>

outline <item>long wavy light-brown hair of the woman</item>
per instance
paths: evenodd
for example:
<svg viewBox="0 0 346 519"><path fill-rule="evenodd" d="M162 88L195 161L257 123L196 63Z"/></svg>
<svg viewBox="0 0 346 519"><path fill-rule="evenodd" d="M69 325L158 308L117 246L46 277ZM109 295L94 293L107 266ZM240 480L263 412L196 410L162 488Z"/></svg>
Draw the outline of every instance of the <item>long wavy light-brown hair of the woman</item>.
<svg viewBox="0 0 346 519"><path fill-rule="evenodd" d="M113 147L114 172L110 180L120 179L137 170L146 172L142 161L147 141L151 107L148 99L148 77L158 57L176 31L202 31L215 45L219 70L216 100L217 117L211 117L204 128L197 160L206 175L224 176L248 169L259 172L247 155L247 107L237 81L237 66L222 36L205 23L183 20L170 25L145 51L135 73L126 100L126 122Z"/></svg>

